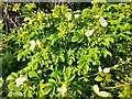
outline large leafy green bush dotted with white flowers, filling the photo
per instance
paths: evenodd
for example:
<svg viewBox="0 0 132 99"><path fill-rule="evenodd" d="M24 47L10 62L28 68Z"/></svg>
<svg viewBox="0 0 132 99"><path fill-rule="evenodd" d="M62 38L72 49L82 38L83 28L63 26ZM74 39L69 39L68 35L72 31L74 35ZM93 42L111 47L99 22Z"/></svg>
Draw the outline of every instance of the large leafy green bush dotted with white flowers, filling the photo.
<svg viewBox="0 0 132 99"><path fill-rule="evenodd" d="M25 4L19 30L2 34L3 48L16 55L19 67L24 64L7 77L7 96L131 97L130 6L94 2L92 8L73 11L62 4L45 13L33 11L35 3ZM86 35L89 30L94 33Z"/></svg>

